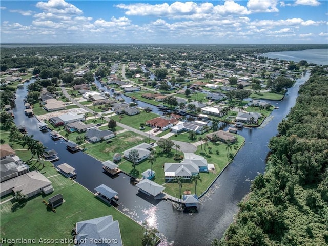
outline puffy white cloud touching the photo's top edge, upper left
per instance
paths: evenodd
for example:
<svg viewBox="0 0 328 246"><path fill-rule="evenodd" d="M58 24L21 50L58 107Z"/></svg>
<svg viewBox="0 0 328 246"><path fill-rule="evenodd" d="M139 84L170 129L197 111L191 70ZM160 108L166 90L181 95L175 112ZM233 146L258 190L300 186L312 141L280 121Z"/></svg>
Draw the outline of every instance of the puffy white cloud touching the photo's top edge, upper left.
<svg viewBox="0 0 328 246"><path fill-rule="evenodd" d="M73 4L66 3L64 0L49 0L48 2L38 2L36 7L45 12L53 14L80 15L82 10L76 8Z"/></svg>

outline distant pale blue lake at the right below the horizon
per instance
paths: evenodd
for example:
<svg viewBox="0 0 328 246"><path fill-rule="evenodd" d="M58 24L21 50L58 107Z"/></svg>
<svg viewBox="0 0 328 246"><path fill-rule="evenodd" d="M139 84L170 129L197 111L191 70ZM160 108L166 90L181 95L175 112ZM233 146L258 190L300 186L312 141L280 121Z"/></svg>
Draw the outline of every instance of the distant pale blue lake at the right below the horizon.
<svg viewBox="0 0 328 246"><path fill-rule="evenodd" d="M317 65L328 65L328 49L306 49L295 51L269 52L262 54L268 58L299 62L308 61Z"/></svg>

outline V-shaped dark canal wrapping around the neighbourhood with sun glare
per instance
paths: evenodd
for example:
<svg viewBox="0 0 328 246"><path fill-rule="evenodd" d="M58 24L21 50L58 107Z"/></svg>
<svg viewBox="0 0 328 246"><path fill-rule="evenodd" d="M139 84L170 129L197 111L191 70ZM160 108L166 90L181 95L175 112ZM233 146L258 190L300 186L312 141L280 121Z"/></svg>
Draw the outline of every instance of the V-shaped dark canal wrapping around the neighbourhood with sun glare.
<svg viewBox="0 0 328 246"><path fill-rule="evenodd" d="M210 245L213 238L222 237L233 221L237 203L249 192L251 181L258 173L264 172L265 157L269 150L268 142L277 134L279 122L295 105L299 86L309 78L309 75L306 73L297 80L282 101L271 102L279 109L274 110L261 127L244 128L239 131L246 139L245 145L214 182L209 192L200 199L199 212L195 214L176 210L173 202L158 201L139 195L137 188L130 184L127 175L119 174L112 179L103 173L99 161L83 152L72 154L66 150L64 140L53 141L50 133L39 131L37 119L24 115L23 98L27 94L25 88L17 90L15 123L17 126L25 125L29 135L33 134L35 139L40 140L49 149L56 150L60 159L54 163L55 165L67 162L76 168L76 181L91 192L95 192L94 188L100 184L106 184L117 191L120 198L118 209L138 222L147 218L149 224L156 226L162 234L162 245Z"/></svg>

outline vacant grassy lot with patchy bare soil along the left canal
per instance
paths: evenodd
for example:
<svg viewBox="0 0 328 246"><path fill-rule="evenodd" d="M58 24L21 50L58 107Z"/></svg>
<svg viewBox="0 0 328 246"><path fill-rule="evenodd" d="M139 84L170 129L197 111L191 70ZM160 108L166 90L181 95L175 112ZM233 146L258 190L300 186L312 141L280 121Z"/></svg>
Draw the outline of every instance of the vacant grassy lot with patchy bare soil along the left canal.
<svg viewBox="0 0 328 246"><path fill-rule="evenodd" d="M88 148L85 152L101 161L113 160L115 153L122 153L124 150L148 141L148 138L131 131L125 131L124 133L117 134L116 137L110 140L112 141L111 143L100 141L94 144L85 144L84 147Z"/></svg>

